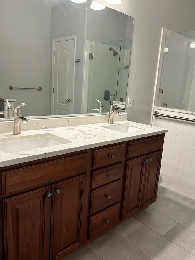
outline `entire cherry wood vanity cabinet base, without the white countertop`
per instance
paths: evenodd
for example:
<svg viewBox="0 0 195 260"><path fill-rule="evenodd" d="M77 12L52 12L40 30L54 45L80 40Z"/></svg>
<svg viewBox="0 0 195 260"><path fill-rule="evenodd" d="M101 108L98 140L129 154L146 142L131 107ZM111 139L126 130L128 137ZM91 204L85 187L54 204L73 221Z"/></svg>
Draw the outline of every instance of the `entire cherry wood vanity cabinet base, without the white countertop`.
<svg viewBox="0 0 195 260"><path fill-rule="evenodd" d="M0 168L0 259L64 259L148 207L163 141L160 134Z"/></svg>

